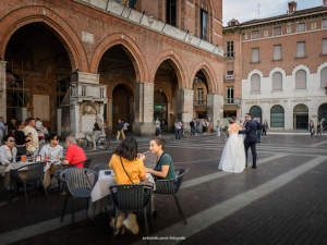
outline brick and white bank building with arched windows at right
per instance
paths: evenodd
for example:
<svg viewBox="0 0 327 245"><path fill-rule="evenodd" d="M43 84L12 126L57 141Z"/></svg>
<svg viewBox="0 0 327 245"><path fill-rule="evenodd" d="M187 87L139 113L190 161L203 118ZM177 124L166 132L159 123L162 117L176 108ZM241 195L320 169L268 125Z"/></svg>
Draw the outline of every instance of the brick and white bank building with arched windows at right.
<svg viewBox="0 0 327 245"><path fill-rule="evenodd" d="M271 130L307 130L327 118L327 7L233 24L223 33L241 47L242 114ZM225 35L225 39L227 39Z"/></svg>

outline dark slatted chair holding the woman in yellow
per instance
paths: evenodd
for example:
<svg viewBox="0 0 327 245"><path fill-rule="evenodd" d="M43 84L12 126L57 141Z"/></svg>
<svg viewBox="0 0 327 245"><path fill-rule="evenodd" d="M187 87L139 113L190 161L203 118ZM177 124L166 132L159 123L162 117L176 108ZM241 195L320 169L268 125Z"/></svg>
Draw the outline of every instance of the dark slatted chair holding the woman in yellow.
<svg viewBox="0 0 327 245"><path fill-rule="evenodd" d="M143 210L146 235L149 235L147 226L146 206L150 203L153 188L154 187L152 185L144 184L112 185L109 187L110 198L116 209L112 243L114 242L118 211L131 212ZM145 195L147 196L147 199L145 198L146 200L144 199Z"/></svg>

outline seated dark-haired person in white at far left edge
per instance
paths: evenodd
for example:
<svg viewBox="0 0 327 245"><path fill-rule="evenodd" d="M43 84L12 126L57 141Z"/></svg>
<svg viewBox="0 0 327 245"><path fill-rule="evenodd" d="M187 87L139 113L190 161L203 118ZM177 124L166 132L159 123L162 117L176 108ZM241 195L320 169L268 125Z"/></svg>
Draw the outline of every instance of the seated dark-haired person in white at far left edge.
<svg viewBox="0 0 327 245"><path fill-rule="evenodd" d="M4 145L0 147L0 174L4 172L7 167L16 160L17 149L15 147L15 138L12 135L3 137Z"/></svg>

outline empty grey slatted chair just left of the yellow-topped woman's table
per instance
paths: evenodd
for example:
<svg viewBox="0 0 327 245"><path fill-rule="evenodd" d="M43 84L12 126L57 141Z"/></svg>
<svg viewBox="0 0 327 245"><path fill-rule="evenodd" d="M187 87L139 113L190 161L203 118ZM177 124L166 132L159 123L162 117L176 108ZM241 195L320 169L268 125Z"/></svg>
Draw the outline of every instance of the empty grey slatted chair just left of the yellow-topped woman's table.
<svg viewBox="0 0 327 245"><path fill-rule="evenodd" d="M66 197L64 200L64 206L63 206L60 222L62 222L63 220L65 206L69 197L72 197L72 224L74 224L74 199L75 198L86 199L86 211L87 211L88 199L90 198L90 193L95 185L94 183L90 186L90 188L87 186L85 181L85 175L87 173L93 173L95 176L97 175L96 172L84 168L69 168L63 170L60 173L60 179L61 179L63 189L66 192Z"/></svg>

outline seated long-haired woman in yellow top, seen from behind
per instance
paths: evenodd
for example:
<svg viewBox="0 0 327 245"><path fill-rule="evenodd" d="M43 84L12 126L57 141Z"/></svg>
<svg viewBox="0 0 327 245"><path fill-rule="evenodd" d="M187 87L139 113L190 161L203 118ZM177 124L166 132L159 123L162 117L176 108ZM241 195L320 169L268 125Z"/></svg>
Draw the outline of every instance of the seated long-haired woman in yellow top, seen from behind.
<svg viewBox="0 0 327 245"><path fill-rule="evenodd" d="M144 155L137 158L137 143L134 137L128 137L117 147L112 155L109 167L114 171L114 181L118 185L140 184L146 180L144 168ZM126 218L128 215L128 218ZM113 228L114 219L110 225ZM133 234L138 233L136 216L134 213L120 212L117 219L117 233L121 226L130 230Z"/></svg>

